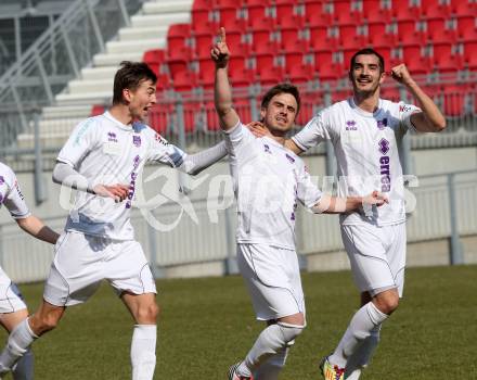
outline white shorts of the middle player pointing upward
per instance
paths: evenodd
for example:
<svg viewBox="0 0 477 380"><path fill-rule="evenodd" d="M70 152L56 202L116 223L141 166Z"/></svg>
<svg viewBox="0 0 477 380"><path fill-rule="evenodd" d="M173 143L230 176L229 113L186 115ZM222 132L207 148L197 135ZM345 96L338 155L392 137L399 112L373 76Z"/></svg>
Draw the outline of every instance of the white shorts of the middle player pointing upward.
<svg viewBox="0 0 477 380"><path fill-rule="evenodd" d="M259 320L305 314L298 256L267 244L237 244L237 264Z"/></svg>

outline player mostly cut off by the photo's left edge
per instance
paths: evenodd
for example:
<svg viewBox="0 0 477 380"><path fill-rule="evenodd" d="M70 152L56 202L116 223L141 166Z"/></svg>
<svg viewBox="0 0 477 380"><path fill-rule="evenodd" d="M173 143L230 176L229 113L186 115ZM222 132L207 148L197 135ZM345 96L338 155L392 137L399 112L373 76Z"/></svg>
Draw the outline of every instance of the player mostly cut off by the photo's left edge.
<svg viewBox="0 0 477 380"><path fill-rule="evenodd" d="M16 180L15 173L5 164L0 163L0 207L4 205L20 228L34 238L50 244L56 243L60 237L46 226L28 210L25 199ZM0 268L0 324L11 332L18 324L28 317L28 309L22 293L9 276ZM15 347L12 347L15 350ZM13 367L14 380L34 379L34 355L30 350L24 352L21 360Z"/></svg>

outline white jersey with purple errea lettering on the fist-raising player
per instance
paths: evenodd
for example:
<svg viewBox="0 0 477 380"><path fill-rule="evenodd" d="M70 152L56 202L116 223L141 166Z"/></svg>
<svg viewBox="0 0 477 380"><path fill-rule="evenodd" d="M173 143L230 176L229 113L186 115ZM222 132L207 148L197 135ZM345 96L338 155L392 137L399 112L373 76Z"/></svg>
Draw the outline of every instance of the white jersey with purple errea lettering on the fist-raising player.
<svg viewBox="0 0 477 380"><path fill-rule="evenodd" d="M418 107L379 99L369 113L352 98L318 113L293 137L302 150L331 140L335 150L339 197L363 197L374 190L389 198L389 204L364 212L340 215L341 224L374 223L379 226L405 220L404 187L398 144Z"/></svg>

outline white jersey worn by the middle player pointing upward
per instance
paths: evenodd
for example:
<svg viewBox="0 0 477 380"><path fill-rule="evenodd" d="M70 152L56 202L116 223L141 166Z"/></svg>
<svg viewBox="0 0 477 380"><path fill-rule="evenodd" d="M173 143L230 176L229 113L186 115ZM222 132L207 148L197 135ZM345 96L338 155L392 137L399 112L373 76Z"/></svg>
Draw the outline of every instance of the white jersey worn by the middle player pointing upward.
<svg viewBox="0 0 477 380"><path fill-rule="evenodd" d="M237 201L237 242L295 250L297 201L311 208L321 191L305 163L269 137L238 123L224 134Z"/></svg>

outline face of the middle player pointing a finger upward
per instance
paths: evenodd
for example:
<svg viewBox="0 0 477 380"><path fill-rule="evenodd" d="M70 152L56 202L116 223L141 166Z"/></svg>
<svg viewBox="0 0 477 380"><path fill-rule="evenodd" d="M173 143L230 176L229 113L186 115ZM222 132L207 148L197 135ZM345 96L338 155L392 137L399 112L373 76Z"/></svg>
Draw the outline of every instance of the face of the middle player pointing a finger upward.
<svg viewBox="0 0 477 380"><path fill-rule="evenodd" d="M298 104L295 97L287 92L275 94L266 107L260 110L263 124L272 134L285 135L295 125Z"/></svg>

